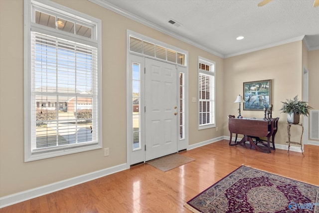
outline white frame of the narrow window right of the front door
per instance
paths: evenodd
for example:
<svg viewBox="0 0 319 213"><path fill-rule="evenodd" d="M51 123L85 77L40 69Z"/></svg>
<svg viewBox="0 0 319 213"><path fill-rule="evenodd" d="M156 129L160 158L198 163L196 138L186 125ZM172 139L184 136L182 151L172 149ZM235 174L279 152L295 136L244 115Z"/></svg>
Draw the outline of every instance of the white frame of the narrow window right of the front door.
<svg viewBox="0 0 319 213"><path fill-rule="evenodd" d="M199 64L200 63L204 63L206 65L210 66L211 71L205 71L199 68ZM198 56L198 63L197 63L197 68L198 68L198 130L201 129L208 129L208 128L213 128L216 127L216 63L214 61L211 61L209 59L203 58ZM212 87L210 88L210 91L213 90L213 92L210 92L211 94L211 101L210 104L212 106L212 116L210 117L210 123L208 124L200 124L200 90L199 90L199 86L200 86L200 82L199 82L199 78L200 75L208 75L208 76L213 76L214 80L213 80L213 85L211 85ZM212 103L213 102L213 103Z"/></svg>

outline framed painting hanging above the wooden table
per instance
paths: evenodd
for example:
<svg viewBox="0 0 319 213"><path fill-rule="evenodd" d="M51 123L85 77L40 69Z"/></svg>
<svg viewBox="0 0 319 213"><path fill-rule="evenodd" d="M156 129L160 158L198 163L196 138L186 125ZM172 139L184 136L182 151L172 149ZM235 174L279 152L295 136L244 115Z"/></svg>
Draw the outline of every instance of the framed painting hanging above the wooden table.
<svg viewBox="0 0 319 213"><path fill-rule="evenodd" d="M271 105L271 80L244 82L244 110L264 111Z"/></svg>

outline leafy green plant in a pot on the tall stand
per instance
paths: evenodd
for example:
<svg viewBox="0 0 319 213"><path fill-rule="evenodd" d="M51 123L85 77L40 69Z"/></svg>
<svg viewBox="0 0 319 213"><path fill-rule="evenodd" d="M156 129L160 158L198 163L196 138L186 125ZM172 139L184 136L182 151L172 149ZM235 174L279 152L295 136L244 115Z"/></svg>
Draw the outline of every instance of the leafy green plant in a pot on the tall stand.
<svg viewBox="0 0 319 213"><path fill-rule="evenodd" d="M313 109L308 105L308 102L298 99L298 95L294 99L286 99L283 102L283 107L280 109L283 113L287 113L287 121L291 124L299 124L300 114L308 116L309 110Z"/></svg>

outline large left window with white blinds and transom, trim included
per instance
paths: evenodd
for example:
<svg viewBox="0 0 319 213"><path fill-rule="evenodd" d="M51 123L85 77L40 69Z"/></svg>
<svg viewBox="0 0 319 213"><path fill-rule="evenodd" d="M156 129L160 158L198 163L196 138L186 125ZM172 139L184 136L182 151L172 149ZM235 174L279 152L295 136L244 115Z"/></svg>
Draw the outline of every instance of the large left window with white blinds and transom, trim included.
<svg viewBox="0 0 319 213"><path fill-rule="evenodd" d="M102 147L101 21L45 2L24 5L25 161Z"/></svg>

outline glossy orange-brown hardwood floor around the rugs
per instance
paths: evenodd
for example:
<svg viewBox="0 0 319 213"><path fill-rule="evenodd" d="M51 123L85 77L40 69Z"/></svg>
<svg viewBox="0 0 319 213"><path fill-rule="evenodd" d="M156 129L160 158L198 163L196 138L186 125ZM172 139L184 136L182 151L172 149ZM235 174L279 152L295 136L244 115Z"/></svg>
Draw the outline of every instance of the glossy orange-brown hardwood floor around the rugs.
<svg viewBox="0 0 319 213"><path fill-rule="evenodd" d="M242 164L319 185L319 146L305 157L228 146L222 140L179 154L195 161L162 172L148 164L0 209L0 213L190 213L184 203Z"/></svg>

